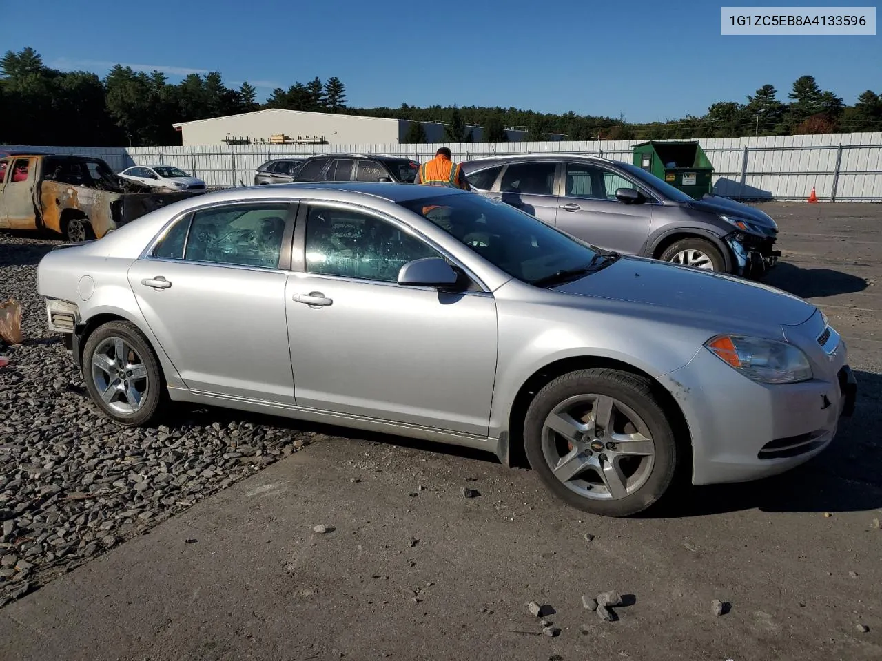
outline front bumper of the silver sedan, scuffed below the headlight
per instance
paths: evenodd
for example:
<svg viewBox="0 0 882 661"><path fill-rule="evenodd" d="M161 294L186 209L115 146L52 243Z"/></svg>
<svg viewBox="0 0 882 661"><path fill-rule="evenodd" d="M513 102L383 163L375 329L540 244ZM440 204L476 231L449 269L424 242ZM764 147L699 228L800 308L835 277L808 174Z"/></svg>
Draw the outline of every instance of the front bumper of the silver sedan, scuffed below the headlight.
<svg viewBox="0 0 882 661"><path fill-rule="evenodd" d="M750 381L702 349L660 381L676 397L691 433L692 483L744 482L787 472L833 441L854 412L857 384L841 344L811 381Z"/></svg>

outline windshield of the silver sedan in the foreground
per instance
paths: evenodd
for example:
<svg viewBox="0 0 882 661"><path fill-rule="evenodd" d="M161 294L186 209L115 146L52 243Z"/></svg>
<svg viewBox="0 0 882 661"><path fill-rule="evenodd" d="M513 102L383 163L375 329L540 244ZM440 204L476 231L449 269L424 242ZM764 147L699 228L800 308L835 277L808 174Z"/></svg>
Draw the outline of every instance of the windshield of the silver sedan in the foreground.
<svg viewBox="0 0 882 661"><path fill-rule="evenodd" d="M488 197L445 195L399 204L524 282L535 284L560 271L584 270L597 255L568 234Z"/></svg>

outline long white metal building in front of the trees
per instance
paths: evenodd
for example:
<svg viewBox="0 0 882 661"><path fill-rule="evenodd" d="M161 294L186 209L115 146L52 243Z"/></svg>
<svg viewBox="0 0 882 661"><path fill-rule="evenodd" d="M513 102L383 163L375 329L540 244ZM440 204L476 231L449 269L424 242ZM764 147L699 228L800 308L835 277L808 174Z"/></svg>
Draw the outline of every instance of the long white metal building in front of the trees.
<svg viewBox="0 0 882 661"><path fill-rule="evenodd" d="M410 122L382 117L310 113L303 110L271 108L242 115L226 115L173 124L181 131L183 145L401 145ZM422 124L427 142L445 142L444 124ZM482 141L480 126L469 126L472 142ZM507 130L510 142L527 137L522 130ZM562 136L551 137L560 140Z"/></svg>

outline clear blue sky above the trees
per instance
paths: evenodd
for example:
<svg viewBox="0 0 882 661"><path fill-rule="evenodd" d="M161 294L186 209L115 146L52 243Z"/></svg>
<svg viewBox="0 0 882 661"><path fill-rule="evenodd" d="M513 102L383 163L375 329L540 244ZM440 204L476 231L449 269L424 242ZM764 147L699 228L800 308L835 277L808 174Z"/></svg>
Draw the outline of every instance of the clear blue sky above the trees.
<svg viewBox="0 0 882 661"><path fill-rule="evenodd" d="M786 101L804 74L849 104L882 93L882 37L723 37L721 4L8 2L0 50L32 46L49 66L101 75L117 62L172 80L221 71L261 98L337 76L360 107L514 106L631 122L702 115L766 83Z"/></svg>

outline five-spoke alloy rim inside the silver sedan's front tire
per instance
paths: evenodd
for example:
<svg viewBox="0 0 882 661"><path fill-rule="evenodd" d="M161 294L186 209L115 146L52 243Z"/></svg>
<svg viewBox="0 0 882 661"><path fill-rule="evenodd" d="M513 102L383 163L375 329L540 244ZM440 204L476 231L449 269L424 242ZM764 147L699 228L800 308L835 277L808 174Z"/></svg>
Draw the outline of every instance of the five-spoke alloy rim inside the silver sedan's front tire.
<svg viewBox="0 0 882 661"><path fill-rule="evenodd" d="M564 486L595 500L618 500L643 486L655 445L644 420L615 397L579 395L542 425L542 455Z"/></svg>

